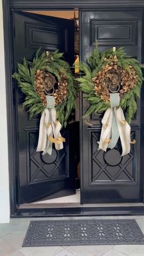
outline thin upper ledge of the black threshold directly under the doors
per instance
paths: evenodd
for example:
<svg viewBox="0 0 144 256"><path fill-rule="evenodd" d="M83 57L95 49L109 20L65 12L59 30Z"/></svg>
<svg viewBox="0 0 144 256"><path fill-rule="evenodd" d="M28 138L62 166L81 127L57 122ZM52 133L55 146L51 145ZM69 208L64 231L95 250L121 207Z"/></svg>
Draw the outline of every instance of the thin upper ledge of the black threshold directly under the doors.
<svg viewBox="0 0 144 256"><path fill-rule="evenodd" d="M25 203L19 209L35 208L85 208L85 207L143 207L143 203Z"/></svg>

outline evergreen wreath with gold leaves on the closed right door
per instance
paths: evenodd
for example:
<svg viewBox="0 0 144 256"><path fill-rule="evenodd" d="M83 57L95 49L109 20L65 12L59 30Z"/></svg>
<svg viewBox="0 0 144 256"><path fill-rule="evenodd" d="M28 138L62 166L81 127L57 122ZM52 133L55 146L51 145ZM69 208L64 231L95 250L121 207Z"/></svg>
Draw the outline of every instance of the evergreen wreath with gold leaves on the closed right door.
<svg viewBox="0 0 144 256"><path fill-rule="evenodd" d="M87 58L87 64L79 64L83 75L77 78L80 90L89 101L90 107L84 114L87 117L92 112L103 112L110 107L109 84L117 82L120 85L120 107L126 112L126 120L131 123L137 111L136 97L140 97L140 88L143 82L142 68L124 52L123 47L116 51L109 49L99 53L98 46L93 49Z"/></svg>

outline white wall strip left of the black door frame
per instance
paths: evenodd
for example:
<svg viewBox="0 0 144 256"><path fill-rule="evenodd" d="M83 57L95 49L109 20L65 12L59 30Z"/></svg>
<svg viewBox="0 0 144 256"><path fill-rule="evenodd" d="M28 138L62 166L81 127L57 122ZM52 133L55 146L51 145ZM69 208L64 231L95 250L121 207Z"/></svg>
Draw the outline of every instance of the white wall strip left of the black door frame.
<svg viewBox="0 0 144 256"><path fill-rule="evenodd" d="M9 222L9 169L7 145L7 114L5 97L4 35L2 0L0 0L0 223Z"/></svg>

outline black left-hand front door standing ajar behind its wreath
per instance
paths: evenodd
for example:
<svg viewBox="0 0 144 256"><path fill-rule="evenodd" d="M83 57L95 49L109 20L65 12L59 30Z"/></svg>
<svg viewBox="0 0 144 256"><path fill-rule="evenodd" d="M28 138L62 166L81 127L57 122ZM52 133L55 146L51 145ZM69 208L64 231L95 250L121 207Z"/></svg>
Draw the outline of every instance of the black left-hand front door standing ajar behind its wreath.
<svg viewBox="0 0 144 256"><path fill-rule="evenodd" d="M74 23L71 20L26 12L13 13L13 59L23 57L32 60L35 52L54 51L64 53L70 65L74 62ZM19 203L32 202L45 197L68 196L75 192L74 159L71 152L71 127L62 131L66 139L63 150L52 150L45 156L35 152L38 142L40 117L31 119L23 109L24 95L15 84L17 137L18 137L18 177ZM71 158L69 157L71 155Z"/></svg>

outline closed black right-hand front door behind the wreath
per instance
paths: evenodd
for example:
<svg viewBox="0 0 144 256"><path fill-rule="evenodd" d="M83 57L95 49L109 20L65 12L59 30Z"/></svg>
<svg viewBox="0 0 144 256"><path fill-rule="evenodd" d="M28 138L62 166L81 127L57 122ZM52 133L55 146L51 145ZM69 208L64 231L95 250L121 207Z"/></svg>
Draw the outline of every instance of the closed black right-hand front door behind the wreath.
<svg viewBox="0 0 144 256"><path fill-rule="evenodd" d="M141 10L84 11L81 18L82 60L85 61L88 54L92 53L97 41L101 51L113 46L125 46L126 53L141 62ZM81 109L82 115L88 109L84 98ZM107 153L98 150L102 117L103 113L90 115L86 120L92 126L86 126L84 119L81 121L81 202L142 202L143 138L140 135L143 120L140 122L140 101L137 100L137 113L131 124L131 134L137 143L131 145L131 153L126 156L121 157L118 145Z"/></svg>

